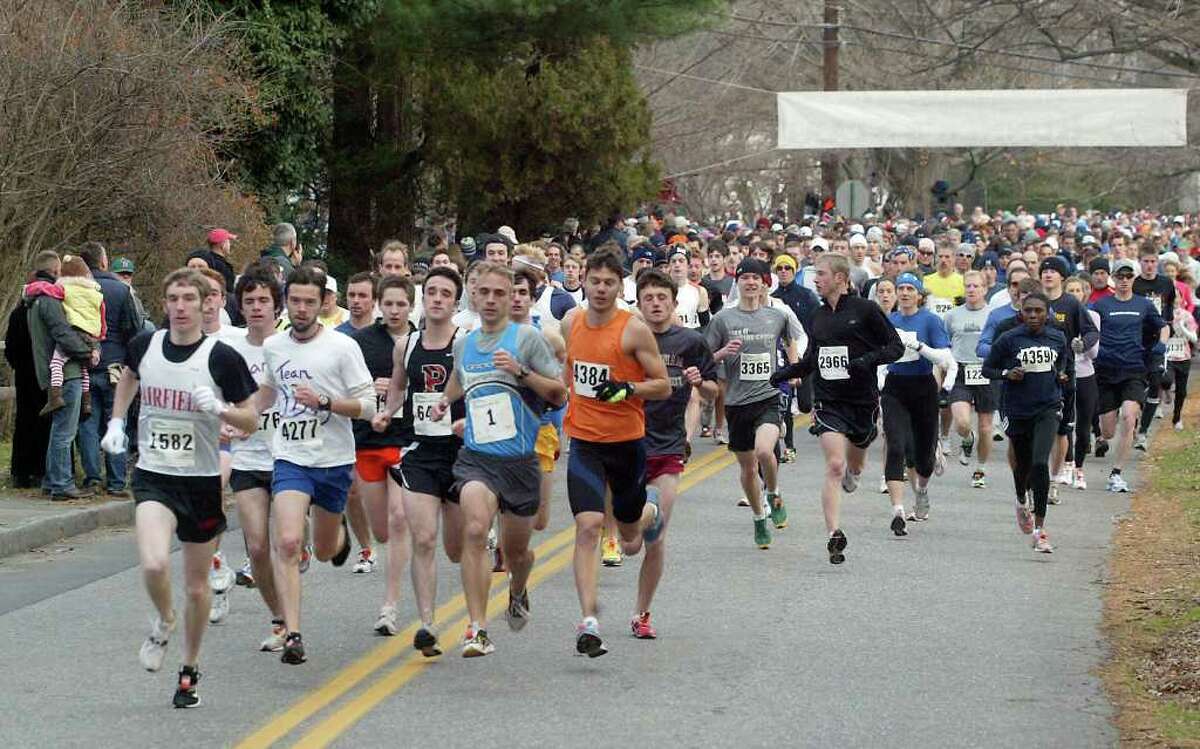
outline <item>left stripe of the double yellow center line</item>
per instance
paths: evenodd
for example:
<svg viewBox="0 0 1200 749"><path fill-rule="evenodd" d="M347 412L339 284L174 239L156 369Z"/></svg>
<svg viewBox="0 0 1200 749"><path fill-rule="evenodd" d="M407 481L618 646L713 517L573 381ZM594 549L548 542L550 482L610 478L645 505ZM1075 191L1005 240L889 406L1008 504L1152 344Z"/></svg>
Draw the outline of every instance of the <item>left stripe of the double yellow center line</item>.
<svg viewBox="0 0 1200 749"><path fill-rule="evenodd" d="M721 460L722 457L725 457L725 460ZM724 448L718 447L712 453L696 459L688 465L680 477L682 480L679 484L679 491L685 491L732 462L732 454ZM570 544L574 539L575 526L570 525L535 546L533 550L534 558L545 559L542 564L550 563L552 561L552 555L557 550ZM563 564L565 564L565 562ZM536 574L536 571L538 568L534 568L533 574ZM458 616L463 610L466 610L466 607L467 599L462 593L458 593L437 607L434 611L434 621L445 622ZM262 749L280 741L301 723L325 709L325 707L354 689L365 678L370 677L372 673L388 665L388 663L408 651L408 648L412 647L413 636L416 634L419 628L420 622L415 621L403 631L397 633L392 637L388 637L380 645L371 648L364 655L360 655L349 665L344 666L328 682L306 694L304 697L287 707L283 712L275 715L275 718L260 729L244 738L236 744L235 749ZM454 642L454 640L446 640L446 642Z"/></svg>

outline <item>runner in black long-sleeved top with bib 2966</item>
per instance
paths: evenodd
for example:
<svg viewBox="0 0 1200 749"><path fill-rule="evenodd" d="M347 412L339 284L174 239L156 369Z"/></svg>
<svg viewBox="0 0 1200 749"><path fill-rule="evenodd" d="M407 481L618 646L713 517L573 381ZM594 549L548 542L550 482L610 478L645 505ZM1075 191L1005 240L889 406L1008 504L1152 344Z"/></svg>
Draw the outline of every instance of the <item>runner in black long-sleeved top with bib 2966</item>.
<svg viewBox="0 0 1200 749"><path fill-rule="evenodd" d="M823 254L816 260L814 282L824 304L812 313L812 330L804 358L772 376L772 383L816 372L812 382L812 426L821 441L826 475L821 489L829 562L846 561L841 529L841 491L858 489L866 448L876 436L880 390L876 367L904 354L904 343L877 305L847 290L846 258Z"/></svg>

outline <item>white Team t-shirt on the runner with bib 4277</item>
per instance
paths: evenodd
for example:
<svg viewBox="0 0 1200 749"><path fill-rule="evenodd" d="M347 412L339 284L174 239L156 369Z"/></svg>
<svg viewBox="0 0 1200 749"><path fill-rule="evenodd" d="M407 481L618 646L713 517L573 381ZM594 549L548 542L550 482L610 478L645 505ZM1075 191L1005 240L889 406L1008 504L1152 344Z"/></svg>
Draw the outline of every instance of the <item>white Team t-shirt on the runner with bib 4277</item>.
<svg viewBox="0 0 1200 749"><path fill-rule="evenodd" d="M293 396L293 388L306 384L331 400L373 397L374 381L359 344L329 328L304 343L281 334L263 344L263 359L266 362L263 384L275 389L275 408L280 412L274 454L306 468L353 463L350 420L301 406Z"/></svg>

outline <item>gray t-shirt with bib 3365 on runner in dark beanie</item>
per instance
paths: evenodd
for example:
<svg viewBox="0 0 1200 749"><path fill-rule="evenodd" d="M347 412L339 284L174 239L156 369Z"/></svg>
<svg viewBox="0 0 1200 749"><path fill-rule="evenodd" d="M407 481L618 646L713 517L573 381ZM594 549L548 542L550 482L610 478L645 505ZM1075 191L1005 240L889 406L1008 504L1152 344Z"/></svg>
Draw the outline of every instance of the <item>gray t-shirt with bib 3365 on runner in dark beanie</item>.
<svg viewBox="0 0 1200 749"><path fill-rule="evenodd" d="M779 344L798 341L803 335L799 322L775 307L760 307L748 312L725 307L708 324L704 341L713 352L733 340L742 341L742 350L725 360L726 406L745 406L778 397L770 384L778 366Z"/></svg>

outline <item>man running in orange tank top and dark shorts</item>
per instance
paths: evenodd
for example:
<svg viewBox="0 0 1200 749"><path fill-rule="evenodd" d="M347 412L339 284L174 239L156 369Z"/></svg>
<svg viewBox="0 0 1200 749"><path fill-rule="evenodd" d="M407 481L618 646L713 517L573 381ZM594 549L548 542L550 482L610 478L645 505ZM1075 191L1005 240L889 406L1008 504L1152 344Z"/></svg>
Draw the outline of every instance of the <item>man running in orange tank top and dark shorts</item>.
<svg viewBox="0 0 1200 749"><path fill-rule="evenodd" d="M583 286L587 310L563 318L570 389L564 425L571 437L566 493L575 514L575 589L583 621L575 648L589 658L607 652L596 621L596 544L612 491L612 516L626 556L662 529L655 492L646 490L644 400L671 395L667 371L654 334L632 313L616 306L624 268L619 253L598 250L588 257ZM635 295L636 300L636 295Z"/></svg>

